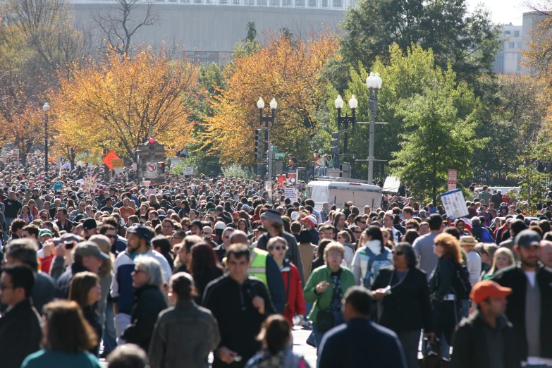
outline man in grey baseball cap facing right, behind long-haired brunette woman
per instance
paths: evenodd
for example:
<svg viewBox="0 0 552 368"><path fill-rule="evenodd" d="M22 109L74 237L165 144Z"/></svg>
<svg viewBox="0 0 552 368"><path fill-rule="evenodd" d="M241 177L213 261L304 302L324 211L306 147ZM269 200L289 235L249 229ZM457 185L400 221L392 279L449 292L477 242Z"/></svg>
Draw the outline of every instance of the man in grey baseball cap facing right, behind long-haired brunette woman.
<svg viewBox="0 0 552 368"><path fill-rule="evenodd" d="M96 243L84 241L78 243L73 249L73 264L70 264L66 271L58 278L58 289L60 298L67 299L69 285L73 277L79 272L90 271L97 274L102 262L109 259L109 255L102 252Z"/></svg>

